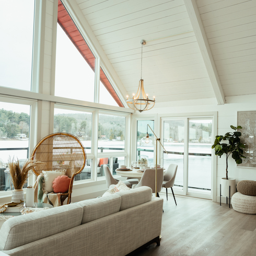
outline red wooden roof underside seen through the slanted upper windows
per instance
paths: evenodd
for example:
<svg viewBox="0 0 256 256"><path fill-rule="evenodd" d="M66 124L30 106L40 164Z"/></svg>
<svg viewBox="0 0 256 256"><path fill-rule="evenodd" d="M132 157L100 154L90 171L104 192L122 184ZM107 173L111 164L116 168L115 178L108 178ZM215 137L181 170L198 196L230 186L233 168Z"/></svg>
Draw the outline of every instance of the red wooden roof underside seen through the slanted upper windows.
<svg viewBox="0 0 256 256"><path fill-rule="evenodd" d="M59 0L59 3L58 3L58 23L67 34L68 38L73 42L76 49L84 57L88 65L92 68L93 71L95 71L95 56L94 54L92 54L89 46L87 45L86 41L80 34L79 30L74 24L74 21L69 16L61 0ZM115 92L112 85L110 84L109 79L104 74L101 68L100 68L100 80L101 80L101 83L109 91L111 96L114 98L114 100L118 103L119 107L124 107L122 101L119 99L117 93Z"/></svg>

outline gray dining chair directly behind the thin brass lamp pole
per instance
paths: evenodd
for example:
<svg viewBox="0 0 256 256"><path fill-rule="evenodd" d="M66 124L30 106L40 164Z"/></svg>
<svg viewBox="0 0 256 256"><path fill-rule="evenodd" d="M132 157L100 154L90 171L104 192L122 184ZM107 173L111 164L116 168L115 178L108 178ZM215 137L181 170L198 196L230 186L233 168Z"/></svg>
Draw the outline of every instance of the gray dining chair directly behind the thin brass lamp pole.
<svg viewBox="0 0 256 256"><path fill-rule="evenodd" d="M159 197L159 192L162 189L162 182L164 180L164 169L162 168L158 168L157 169L157 191L156 191L156 184L155 184L155 180L156 180L156 169L146 169L143 174L142 174L142 178L139 181L139 183L136 185L136 188L142 187L142 186L147 186L152 188L153 193L157 192L157 196Z"/></svg>

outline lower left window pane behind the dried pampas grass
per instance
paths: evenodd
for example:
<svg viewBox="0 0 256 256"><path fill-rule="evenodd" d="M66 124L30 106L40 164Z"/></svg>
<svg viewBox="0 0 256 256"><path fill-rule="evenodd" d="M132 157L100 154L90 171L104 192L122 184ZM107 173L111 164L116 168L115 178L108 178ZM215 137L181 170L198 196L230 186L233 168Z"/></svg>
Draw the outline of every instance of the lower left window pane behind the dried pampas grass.
<svg viewBox="0 0 256 256"><path fill-rule="evenodd" d="M29 158L30 112L30 104L0 101L0 191L14 189L7 163Z"/></svg>

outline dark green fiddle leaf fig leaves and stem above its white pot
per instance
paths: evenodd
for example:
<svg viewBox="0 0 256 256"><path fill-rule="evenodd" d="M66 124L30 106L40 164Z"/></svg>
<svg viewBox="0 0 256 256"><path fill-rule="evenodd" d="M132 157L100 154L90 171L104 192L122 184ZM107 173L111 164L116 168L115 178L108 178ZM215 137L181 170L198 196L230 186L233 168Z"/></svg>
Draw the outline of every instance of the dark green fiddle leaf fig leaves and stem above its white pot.
<svg viewBox="0 0 256 256"><path fill-rule="evenodd" d="M226 178L228 180L228 157L232 154L232 158L235 159L237 164L242 163L242 158L246 158L243 156L243 148L245 148L245 144L241 143L240 136L241 133L237 131L237 129L242 129L240 125L237 127L230 125L231 129L235 130L233 133L226 133L224 136L217 135L215 138L215 142L212 145L212 148L215 149L215 155L222 157L223 154L226 154ZM222 141L226 141L220 143Z"/></svg>

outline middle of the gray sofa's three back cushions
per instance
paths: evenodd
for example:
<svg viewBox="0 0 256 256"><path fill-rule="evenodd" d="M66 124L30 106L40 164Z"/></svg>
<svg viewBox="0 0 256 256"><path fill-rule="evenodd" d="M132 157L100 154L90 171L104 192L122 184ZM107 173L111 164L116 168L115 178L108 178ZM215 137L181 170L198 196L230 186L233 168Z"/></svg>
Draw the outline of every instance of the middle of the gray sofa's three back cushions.
<svg viewBox="0 0 256 256"><path fill-rule="evenodd" d="M82 224L120 211L121 197L116 194L80 201L84 208Z"/></svg>

